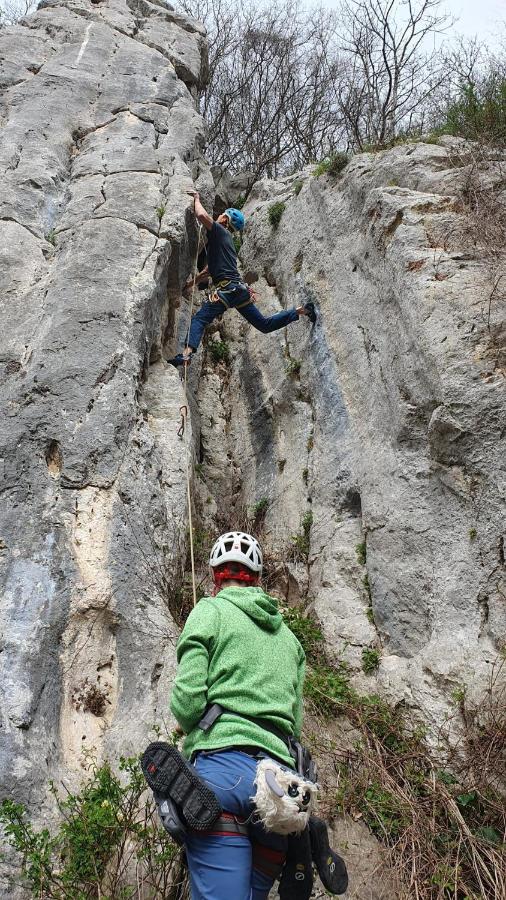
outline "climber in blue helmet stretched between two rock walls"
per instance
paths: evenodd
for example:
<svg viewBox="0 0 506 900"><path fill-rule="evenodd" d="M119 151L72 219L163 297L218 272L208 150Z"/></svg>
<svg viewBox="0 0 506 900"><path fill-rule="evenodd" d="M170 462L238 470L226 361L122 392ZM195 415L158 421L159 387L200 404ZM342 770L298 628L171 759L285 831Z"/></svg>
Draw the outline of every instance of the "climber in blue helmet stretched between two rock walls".
<svg viewBox="0 0 506 900"><path fill-rule="evenodd" d="M237 252L232 235L244 229L244 215L239 209L229 208L225 210L216 221L202 206L199 194L190 192L194 199L195 215L201 225L207 230L207 265L195 278L187 284L187 287L196 286L203 281L212 278L214 292L212 299L202 304L199 311L193 316L186 346L182 353L169 360L172 365L186 365L191 361L191 355L197 349L202 340L206 325L210 325L213 319L223 315L227 309L237 309L250 325L257 328L263 334L284 328L291 322L296 322L299 316L307 316L309 321L316 322L314 303L309 301L302 306L284 309L273 316L264 316L256 308L250 289L241 280L237 268Z"/></svg>

